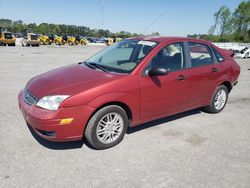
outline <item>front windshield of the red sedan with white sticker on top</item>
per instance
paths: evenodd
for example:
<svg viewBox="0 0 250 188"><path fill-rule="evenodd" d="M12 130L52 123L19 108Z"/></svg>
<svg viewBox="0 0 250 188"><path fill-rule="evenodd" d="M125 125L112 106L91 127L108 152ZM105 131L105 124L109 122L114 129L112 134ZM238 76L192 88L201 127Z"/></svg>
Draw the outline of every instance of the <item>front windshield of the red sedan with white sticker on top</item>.
<svg viewBox="0 0 250 188"><path fill-rule="evenodd" d="M99 65L110 72L130 73L156 45L151 41L124 40L105 48L86 63Z"/></svg>

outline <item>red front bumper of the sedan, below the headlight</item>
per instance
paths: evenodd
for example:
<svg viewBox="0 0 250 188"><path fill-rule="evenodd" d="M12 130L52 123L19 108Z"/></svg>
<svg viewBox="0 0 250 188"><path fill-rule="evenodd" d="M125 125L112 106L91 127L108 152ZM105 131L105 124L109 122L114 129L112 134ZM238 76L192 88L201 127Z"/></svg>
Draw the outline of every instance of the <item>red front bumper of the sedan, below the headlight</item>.
<svg viewBox="0 0 250 188"><path fill-rule="evenodd" d="M94 112L87 105L59 108L56 111L29 105L24 101L23 91L18 95L19 108L25 121L36 134L50 141L81 140L87 121ZM65 118L74 118L70 124L60 125Z"/></svg>

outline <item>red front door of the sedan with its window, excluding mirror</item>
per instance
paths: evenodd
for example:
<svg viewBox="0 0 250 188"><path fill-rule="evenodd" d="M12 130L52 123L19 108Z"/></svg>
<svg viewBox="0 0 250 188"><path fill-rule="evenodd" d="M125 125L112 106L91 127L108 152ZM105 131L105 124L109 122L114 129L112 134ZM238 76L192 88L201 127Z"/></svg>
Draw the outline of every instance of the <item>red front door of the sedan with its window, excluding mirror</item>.
<svg viewBox="0 0 250 188"><path fill-rule="evenodd" d="M168 70L167 75L148 76L152 67ZM140 79L140 119L146 120L167 116L186 108L188 70L182 43L173 43L162 48L147 65Z"/></svg>

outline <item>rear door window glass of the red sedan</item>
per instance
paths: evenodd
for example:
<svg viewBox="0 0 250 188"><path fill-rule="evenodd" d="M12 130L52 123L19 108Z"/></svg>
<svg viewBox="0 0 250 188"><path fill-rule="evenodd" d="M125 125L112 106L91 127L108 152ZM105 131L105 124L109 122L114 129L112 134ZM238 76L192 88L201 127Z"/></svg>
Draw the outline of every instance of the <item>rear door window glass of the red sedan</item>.
<svg viewBox="0 0 250 188"><path fill-rule="evenodd" d="M207 45L189 42L188 48L192 67L213 64L213 56Z"/></svg>

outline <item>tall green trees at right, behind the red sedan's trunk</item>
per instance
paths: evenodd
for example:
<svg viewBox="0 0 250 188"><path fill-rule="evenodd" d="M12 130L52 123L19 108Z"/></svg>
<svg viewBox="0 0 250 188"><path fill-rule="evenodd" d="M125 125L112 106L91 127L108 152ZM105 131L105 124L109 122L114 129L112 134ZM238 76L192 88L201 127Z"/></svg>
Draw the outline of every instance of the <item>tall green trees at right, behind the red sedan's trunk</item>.
<svg viewBox="0 0 250 188"><path fill-rule="evenodd" d="M214 24L208 34L194 34L188 37L213 42L250 42L250 0L241 2L234 12L227 6L222 6L213 16Z"/></svg>

